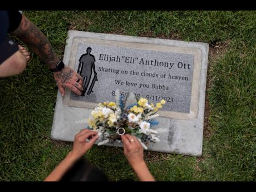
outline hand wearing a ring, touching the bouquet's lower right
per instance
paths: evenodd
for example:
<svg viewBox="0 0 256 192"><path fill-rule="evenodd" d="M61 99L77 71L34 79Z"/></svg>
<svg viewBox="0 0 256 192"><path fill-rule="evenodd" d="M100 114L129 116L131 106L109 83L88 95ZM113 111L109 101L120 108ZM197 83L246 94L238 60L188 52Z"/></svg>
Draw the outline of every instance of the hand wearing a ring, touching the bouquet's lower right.
<svg viewBox="0 0 256 192"><path fill-rule="evenodd" d="M129 134L122 135L121 137L125 156L131 166L134 168L137 164L144 163L143 147L140 141L135 136Z"/></svg>

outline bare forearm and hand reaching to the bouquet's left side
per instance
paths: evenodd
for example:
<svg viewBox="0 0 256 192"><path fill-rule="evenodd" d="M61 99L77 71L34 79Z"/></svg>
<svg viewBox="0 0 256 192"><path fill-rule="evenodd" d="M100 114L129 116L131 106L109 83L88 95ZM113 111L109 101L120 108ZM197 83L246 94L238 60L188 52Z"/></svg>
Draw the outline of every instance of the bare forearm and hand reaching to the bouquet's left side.
<svg viewBox="0 0 256 192"><path fill-rule="evenodd" d="M73 143L73 149L68 155L61 161L61 163L47 176L45 181L59 181L68 169L82 157L92 147L95 141L99 138L98 132L90 130L82 130L75 136ZM90 141L86 139L92 137Z"/></svg>

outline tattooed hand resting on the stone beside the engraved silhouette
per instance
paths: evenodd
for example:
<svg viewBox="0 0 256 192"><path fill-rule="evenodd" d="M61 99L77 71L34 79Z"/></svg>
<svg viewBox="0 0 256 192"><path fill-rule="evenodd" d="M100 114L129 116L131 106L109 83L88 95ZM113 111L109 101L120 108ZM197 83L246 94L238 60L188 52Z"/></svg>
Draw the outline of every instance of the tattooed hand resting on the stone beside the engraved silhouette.
<svg viewBox="0 0 256 192"><path fill-rule="evenodd" d="M64 67L61 71L53 72L53 76L61 91L62 97L65 95L65 88L70 88L77 95L81 95L83 90L83 78L70 67Z"/></svg>

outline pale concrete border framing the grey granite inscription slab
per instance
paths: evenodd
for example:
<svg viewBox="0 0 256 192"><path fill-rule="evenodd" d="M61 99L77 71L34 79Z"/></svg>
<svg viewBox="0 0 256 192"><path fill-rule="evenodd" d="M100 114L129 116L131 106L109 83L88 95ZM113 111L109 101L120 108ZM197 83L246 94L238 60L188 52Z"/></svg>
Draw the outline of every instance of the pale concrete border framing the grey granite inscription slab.
<svg viewBox="0 0 256 192"><path fill-rule="evenodd" d="M107 38L107 40L110 41L115 41L116 38L118 38L119 41L131 41L132 39L132 42L134 43L148 43L150 41L151 43L161 43L161 45L165 46L198 48L201 51L202 56L198 115L193 119L187 120L176 119L175 117L157 117L157 120L160 122L160 124L157 126L156 130L159 132L160 142L154 145L151 144L149 146L149 150L201 156L203 145L205 89L209 50L208 43L68 31L68 38L66 41L67 45L65 47L65 54L63 58L64 63L68 63L70 61L68 58L68 53L71 52L72 41L75 37L100 38L102 40ZM53 117L51 139L73 141L73 138L75 134L79 132L79 129L83 129L85 127L85 125L75 125L73 121L88 117L90 115L91 109L80 109L78 107L65 106L62 105L62 102L62 96L58 90L55 115ZM107 145L113 146L111 144ZM122 147L121 144L115 144L115 146Z"/></svg>

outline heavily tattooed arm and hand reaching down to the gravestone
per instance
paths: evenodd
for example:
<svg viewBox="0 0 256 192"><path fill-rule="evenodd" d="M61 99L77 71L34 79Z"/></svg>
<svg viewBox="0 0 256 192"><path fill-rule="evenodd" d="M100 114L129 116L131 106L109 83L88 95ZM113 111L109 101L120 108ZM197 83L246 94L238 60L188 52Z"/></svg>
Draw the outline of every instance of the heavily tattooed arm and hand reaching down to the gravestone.
<svg viewBox="0 0 256 192"><path fill-rule="evenodd" d="M11 34L26 43L49 68L55 68L60 61L47 37L24 14L22 14L22 21L19 27ZM65 67L60 72L53 72L53 76L62 96L65 95L64 87L70 88L77 95L81 95L82 77L70 67Z"/></svg>

